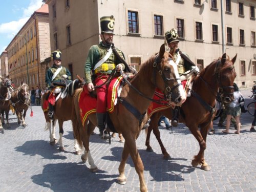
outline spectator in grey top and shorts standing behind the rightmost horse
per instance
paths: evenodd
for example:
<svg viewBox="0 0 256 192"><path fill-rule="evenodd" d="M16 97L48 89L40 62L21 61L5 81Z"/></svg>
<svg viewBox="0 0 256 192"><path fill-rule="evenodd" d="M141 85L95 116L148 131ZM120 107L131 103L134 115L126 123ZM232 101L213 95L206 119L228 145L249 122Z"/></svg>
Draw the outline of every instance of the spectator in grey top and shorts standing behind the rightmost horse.
<svg viewBox="0 0 256 192"><path fill-rule="evenodd" d="M233 83L234 87L234 100L229 104L228 111L227 111L227 123L226 123L226 130L223 130L223 133L229 133L229 126L231 117L234 116L237 122L237 131L234 132L235 134L240 134L240 115L241 115L241 108L239 103L239 98L241 97L241 92L236 83Z"/></svg>

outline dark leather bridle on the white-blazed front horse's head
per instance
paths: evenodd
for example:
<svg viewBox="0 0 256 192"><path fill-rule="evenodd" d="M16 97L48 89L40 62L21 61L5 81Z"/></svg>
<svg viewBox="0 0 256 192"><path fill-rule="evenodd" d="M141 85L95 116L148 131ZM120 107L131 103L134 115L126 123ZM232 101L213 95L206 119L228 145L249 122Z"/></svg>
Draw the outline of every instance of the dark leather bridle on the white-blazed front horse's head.
<svg viewBox="0 0 256 192"><path fill-rule="evenodd" d="M167 61L169 61L169 60L171 60L171 58L168 58L167 59ZM180 78L172 78L172 79L170 79L170 78L167 78L165 75L164 75L164 73L163 73L163 71L162 71L162 69L161 69L161 65L160 65L160 59L159 59L159 54L157 54L156 55L156 57L155 57L155 61L154 61L154 63L153 63L153 68L154 68L154 70L153 70L153 82L154 82L154 86L155 87L157 87L157 79L156 79L156 74L157 74L157 72L159 73L159 75L161 75L161 77L162 77L162 79L163 79L163 81L164 81L164 90L166 90L167 91L167 95L165 95L165 97L166 97L166 99L171 99L172 98L172 93L173 93L173 91L175 90L175 89L177 89L179 86L181 86L182 84L181 84L181 82L180 83L177 83L174 87L172 87L172 88L170 88L169 86L168 86L168 82L169 81L177 81L177 80L179 80Z"/></svg>

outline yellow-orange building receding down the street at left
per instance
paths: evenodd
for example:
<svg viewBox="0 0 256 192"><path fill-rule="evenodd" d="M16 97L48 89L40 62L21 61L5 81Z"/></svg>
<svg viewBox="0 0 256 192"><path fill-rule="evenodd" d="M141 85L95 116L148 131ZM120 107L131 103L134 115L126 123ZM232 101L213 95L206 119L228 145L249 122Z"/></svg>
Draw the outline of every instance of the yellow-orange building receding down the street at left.
<svg viewBox="0 0 256 192"><path fill-rule="evenodd" d="M9 76L17 86L45 87L49 67L44 60L51 55L48 5L36 10L7 46Z"/></svg>

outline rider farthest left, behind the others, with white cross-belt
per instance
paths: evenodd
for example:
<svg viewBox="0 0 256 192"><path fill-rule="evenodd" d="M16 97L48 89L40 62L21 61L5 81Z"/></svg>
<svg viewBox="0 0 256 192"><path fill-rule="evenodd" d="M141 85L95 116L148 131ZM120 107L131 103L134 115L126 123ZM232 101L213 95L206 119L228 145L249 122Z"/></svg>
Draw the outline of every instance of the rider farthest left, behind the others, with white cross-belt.
<svg viewBox="0 0 256 192"><path fill-rule="evenodd" d="M70 71L61 66L61 52L59 50L52 52L52 58L53 58L53 66L49 68L46 72L46 84L47 87L50 89L54 88L54 84L62 84L61 80L62 78L66 78L67 82L71 82L71 73ZM50 119L53 119L53 111L54 111L54 102L49 101L49 111L48 111L48 117Z"/></svg>

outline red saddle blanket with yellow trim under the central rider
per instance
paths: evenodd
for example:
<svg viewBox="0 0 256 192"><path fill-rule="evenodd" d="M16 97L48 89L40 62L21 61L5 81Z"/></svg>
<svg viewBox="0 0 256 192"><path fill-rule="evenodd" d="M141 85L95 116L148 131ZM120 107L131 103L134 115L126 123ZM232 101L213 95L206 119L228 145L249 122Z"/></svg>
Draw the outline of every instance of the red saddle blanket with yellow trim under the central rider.
<svg viewBox="0 0 256 192"><path fill-rule="evenodd" d="M117 99L117 90L122 79L123 78L121 76L116 77L112 79L109 84L107 95L108 104L106 108L106 111L108 111L109 113L112 113L114 111L114 106ZM87 89L83 89L83 91L79 95L78 102L80 108L80 118L82 121L82 125L84 126L84 122L86 122L88 116L90 114L96 113L97 99L91 97Z"/></svg>

